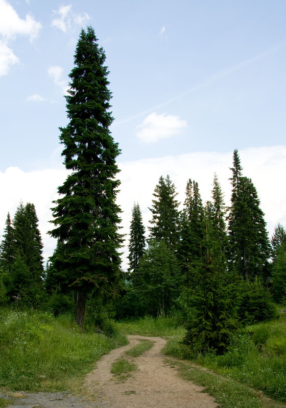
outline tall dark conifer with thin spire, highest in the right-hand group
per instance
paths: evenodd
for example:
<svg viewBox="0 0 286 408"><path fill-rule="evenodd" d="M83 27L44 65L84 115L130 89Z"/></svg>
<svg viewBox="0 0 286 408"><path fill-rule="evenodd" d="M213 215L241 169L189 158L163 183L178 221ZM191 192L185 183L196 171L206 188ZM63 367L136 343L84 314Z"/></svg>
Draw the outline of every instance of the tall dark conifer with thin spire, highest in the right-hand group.
<svg viewBox="0 0 286 408"><path fill-rule="evenodd" d="M233 153L232 195L228 216L229 259L244 278L269 275L270 244L257 191L242 176L237 150Z"/></svg>

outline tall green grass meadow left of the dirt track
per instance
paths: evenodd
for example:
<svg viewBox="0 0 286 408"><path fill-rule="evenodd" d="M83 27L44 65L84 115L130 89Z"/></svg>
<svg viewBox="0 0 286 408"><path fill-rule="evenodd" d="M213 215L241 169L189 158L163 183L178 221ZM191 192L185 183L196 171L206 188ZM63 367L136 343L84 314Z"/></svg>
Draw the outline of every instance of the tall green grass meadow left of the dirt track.
<svg viewBox="0 0 286 408"><path fill-rule="evenodd" d="M60 390L91 370L125 336L84 333L69 315L0 310L0 387Z"/></svg>

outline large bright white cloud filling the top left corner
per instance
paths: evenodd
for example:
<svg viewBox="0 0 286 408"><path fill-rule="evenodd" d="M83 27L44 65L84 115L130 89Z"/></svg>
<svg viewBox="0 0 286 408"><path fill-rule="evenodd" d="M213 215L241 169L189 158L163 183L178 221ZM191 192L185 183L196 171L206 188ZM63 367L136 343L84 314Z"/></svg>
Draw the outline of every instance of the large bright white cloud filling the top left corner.
<svg viewBox="0 0 286 408"><path fill-rule="evenodd" d="M32 42L38 37L41 23L30 14L21 19L7 0L0 0L0 77L7 75L10 67L19 62L11 49L17 35L27 36Z"/></svg>

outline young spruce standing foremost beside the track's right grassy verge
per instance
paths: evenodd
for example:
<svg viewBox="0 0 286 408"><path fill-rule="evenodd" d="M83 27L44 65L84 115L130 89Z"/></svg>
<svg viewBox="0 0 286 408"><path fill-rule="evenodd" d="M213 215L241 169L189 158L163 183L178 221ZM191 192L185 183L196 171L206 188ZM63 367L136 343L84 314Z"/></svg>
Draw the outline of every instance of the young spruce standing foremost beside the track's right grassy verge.
<svg viewBox="0 0 286 408"><path fill-rule="evenodd" d="M214 350L222 353L229 344L236 322L235 274L227 271L222 243L207 207L204 215L202 257L194 269L194 287L189 303L195 316L187 324L184 343L194 354Z"/></svg>

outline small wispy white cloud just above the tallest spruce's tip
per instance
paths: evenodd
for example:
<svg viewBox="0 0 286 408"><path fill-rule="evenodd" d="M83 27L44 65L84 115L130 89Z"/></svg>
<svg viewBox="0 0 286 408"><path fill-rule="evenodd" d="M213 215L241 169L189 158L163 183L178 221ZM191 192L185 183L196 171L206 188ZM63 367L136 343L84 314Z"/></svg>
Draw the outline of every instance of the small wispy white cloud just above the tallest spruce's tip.
<svg viewBox="0 0 286 408"><path fill-rule="evenodd" d="M54 14L58 15L57 18L52 20L52 27L66 33L72 31L74 24L84 25L89 20L87 13L75 14L71 11L71 4L68 6L60 6L58 10L54 10Z"/></svg>

